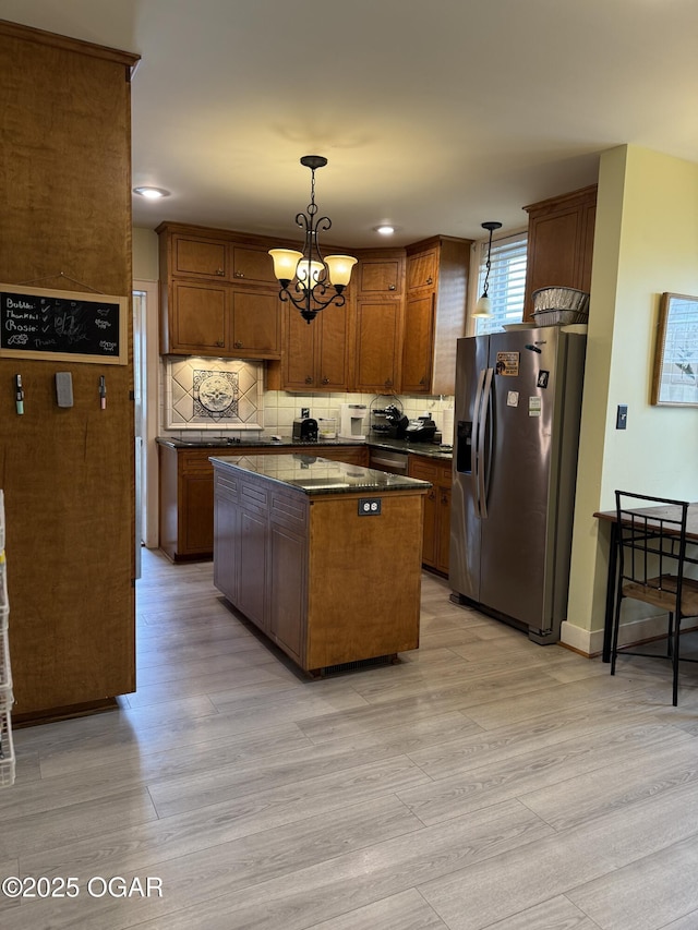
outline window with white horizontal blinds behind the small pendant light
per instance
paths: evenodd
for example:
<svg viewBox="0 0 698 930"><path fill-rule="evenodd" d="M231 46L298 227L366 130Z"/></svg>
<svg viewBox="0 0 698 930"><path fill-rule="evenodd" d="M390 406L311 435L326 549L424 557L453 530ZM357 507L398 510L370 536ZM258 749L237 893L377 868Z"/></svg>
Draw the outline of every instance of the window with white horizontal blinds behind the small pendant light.
<svg viewBox="0 0 698 930"><path fill-rule="evenodd" d="M498 333L506 323L524 319L524 292L526 289L526 250L528 233L519 232L497 239L492 243L490 255L490 281L488 294L492 301L492 316L476 317L476 335ZM480 275L478 297L484 288L486 274L488 240L480 243Z"/></svg>

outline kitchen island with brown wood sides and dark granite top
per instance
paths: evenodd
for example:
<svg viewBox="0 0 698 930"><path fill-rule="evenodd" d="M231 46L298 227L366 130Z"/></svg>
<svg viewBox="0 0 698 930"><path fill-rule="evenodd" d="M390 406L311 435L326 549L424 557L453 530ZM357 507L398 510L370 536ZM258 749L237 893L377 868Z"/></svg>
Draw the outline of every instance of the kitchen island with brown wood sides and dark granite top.
<svg viewBox="0 0 698 930"><path fill-rule="evenodd" d="M429 482L315 456L219 457L214 583L303 671L419 647Z"/></svg>

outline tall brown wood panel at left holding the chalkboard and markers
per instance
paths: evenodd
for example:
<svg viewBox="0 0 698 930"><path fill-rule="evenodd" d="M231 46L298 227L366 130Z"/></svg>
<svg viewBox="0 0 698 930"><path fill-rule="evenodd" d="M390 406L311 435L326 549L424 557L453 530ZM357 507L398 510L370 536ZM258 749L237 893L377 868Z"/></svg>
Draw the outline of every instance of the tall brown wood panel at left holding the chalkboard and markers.
<svg viewBox="0 0 698 930"><path fill-rule="evenodd" d="M136 61L0 22L1 282L130 295ZM129 317L128 365L0 359L14 720L109 703L135 688ZM59 371L72 374L69 409L56 403Z"/></svg>

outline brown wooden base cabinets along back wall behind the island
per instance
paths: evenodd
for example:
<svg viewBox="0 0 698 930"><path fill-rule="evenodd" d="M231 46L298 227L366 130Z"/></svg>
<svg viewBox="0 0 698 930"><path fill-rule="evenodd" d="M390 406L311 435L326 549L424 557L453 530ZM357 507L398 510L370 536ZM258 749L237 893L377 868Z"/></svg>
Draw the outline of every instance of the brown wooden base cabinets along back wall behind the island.
<svg viewBox="0 0 698 930"><path fill-rule="evenodd" d="M210 456L266 456L290 452L364 467L369 463L369 450L365 445L174 448L158 443L159 547L163 553L171 561L191 561L213 556L214 471ZM252 534L253 518L254 511L245 518ZM232 583L232 580L228 583ZM254 607L252 609L254 611Z"/></svg>

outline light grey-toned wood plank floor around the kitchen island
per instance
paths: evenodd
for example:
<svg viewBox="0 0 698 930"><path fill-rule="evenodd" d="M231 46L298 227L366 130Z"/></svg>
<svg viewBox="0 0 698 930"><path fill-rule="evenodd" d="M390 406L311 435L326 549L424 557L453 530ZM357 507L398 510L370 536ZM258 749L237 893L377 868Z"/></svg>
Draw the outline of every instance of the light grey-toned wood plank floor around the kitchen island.
<svg viewBox="0 0 698 930"><path fill-rule="evenodd" d="M401 664L311 681L210 564L144 552L137 692L16 732L0 789L0 875L80 894L0 926L696 930L698 666L673 709L664 663L611 678L448 594ZM115 875L163 897L88 895Z"/></svg>

